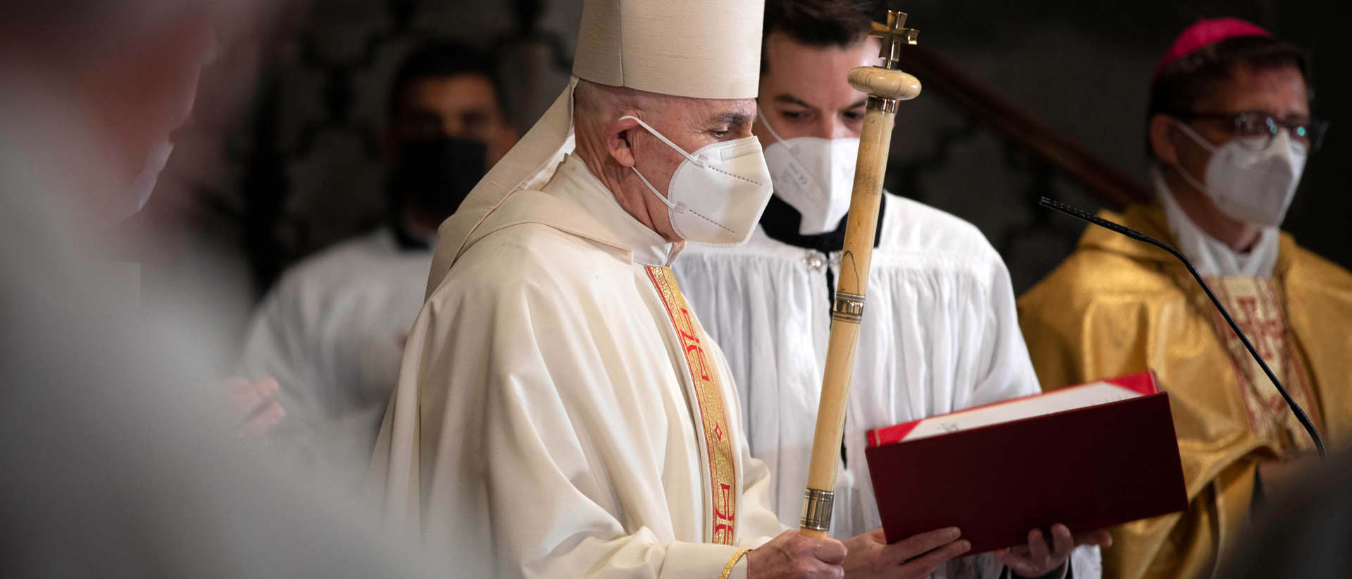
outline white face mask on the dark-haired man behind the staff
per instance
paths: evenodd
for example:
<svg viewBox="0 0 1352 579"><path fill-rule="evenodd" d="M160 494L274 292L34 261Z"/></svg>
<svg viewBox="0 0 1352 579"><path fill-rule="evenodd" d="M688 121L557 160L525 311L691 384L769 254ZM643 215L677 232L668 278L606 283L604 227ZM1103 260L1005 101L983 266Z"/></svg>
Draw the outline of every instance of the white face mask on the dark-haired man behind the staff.
<svg viewBox="0 0 1352 579"><path fill-rule="evenodd" d="M817 235L834 231L841 217L849 213L859 139L781 139L765 115L758 109L756 113L777 142L765 147L765 163L775 181L775 194L803 216L798 232Z"/></svg>

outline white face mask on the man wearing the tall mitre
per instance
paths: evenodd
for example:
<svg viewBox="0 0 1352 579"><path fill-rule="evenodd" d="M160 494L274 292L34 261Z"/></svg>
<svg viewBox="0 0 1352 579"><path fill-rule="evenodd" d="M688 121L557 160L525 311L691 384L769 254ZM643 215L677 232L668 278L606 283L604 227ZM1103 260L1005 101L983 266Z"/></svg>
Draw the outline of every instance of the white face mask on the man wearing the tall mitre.
<svg viewBox="0 0 1352 579"><path fill-rule="evenodd" d="M676 235L713 246L741 246L750 239L773 190L760 140L748 136L685 153L641 119L621 119L637 120L648 132L685 157L672 174L665 197L638 173L638 167L630 167L648 185L648 190L667 205Z"/></svg>

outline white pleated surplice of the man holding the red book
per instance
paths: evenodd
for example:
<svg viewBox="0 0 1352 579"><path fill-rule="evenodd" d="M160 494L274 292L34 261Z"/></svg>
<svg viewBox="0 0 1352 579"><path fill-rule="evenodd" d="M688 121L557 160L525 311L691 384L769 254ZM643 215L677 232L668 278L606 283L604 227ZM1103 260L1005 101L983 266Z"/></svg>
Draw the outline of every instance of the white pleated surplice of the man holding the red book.
<svg viewBox="0 0 1352 579"><path fill-rule="evenodd" d="M882 526L864 458L869 429L1040 391L1009 270L986 236L891 193L883 209L845 414L837 537ZM727 355L752 455L771 470L771 505L786 525L802 513L830 331L826 269L837 279L838 262L840 252L757 228L740 248L691 244L672 267ZM1096 576L1096 549L1080 551L1091 552L1076 553L1075 576ZM998 574L992 557L980 559L955 561L949 576Z"/></svg>

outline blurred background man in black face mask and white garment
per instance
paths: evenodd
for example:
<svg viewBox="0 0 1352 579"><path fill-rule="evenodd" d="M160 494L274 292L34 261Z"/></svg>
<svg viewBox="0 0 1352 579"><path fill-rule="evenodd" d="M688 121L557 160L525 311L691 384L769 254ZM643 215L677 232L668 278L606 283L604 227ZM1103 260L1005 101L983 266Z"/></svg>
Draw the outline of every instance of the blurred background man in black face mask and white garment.
<svg viewBox="0 0 1352 579"><path fill-rule="evenodd" d="M360 490L423 302L437 227L516 142L485 57L460 43L400 63L381 140L389 217L291 267L258 306L241 373L274 377L288 418L270 441Z"/></svg>

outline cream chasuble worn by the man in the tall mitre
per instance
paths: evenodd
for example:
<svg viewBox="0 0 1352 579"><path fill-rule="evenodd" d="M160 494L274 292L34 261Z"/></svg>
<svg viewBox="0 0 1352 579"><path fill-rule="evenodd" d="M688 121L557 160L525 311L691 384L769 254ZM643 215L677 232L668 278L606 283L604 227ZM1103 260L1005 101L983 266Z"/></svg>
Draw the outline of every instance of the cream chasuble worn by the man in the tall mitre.
<svg viewBox="0 0 1352 579"><path fill-rule="evenodd" d="M717 578L777 534L769 472L694 320L735 451L735 547L708 543L702 406L645 267L676 251L575 157L511 193L414 323L368 494L470 576Z"/></svg>

